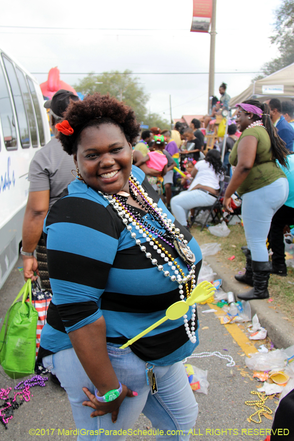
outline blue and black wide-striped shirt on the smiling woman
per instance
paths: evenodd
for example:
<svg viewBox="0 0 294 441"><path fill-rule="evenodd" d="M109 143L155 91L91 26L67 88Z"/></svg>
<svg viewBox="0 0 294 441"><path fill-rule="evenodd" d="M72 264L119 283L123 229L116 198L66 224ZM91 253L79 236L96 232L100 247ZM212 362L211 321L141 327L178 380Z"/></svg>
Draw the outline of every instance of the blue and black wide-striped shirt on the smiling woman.
<svg viewBox="0 0 294 441"><path fill-rule="evenodd" d="M196 255L197 280L201 251L196 240L174 221L145 174L134 166L132 172L188 240ZM145 220L160 227L146 212ZM138 230L136 234L143 245L146 239ZM151 265L108 201L80 181L73 181L68 186L68 195L50 209L44 222L44 237L53 296L41 334L39 358L72 347L68 333L102 315L107 343L121 346L164 317L166 309L180 299L177 282ZM144 245L154 258L160 259L150 245ZM163 245L187 274L187 266L174 248ZM160 264L164 270L170 270L163 259ZM191 314L190 308L189 322ZM193 344L181 318L167 320L130 347L145 361L170 365L189 356L197 344L197 331Z"/></svg>

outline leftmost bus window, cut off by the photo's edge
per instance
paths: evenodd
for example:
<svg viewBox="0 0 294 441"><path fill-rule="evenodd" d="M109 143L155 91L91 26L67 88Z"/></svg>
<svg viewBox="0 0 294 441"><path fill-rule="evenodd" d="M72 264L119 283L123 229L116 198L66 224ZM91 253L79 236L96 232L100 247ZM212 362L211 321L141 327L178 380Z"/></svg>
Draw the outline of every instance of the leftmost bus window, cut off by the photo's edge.
<svg viewBox="0 0 294 441"><path fill-rule="evenodd" d="M0 65L0 118L4 137L4 144L7 150L17 148L17 137L12 104L5 81L4 72Z"/></svg>

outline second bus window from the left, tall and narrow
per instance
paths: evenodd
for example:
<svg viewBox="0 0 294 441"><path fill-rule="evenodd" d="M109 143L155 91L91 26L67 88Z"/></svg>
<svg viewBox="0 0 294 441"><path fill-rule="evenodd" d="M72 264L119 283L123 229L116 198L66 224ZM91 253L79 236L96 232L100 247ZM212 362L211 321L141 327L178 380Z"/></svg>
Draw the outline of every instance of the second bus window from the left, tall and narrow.
<svg viewBox="0 0 294 441"><path fill-rule="evenodd" d="M11 63L11 61L8 60L8 58L3 56L3 54L2 54L2 58L4 61L6 73L8 76L8 80L10 83L10 88L14 100L16 116L20 130L21 144L23 148L27 148L30 146L30 139L29 139L28 122L26 118L25 104L24 104L22 92L20 89L19 82L17 80L17 76L13 64Z"/></svg>

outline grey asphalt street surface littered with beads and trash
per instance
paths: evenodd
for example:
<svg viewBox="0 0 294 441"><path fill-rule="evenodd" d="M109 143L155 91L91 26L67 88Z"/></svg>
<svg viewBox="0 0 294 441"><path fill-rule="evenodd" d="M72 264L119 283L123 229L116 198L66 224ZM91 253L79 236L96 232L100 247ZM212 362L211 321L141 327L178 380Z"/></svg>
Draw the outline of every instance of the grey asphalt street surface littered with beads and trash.
<svg viewBox="0 0 294 441"><path fill-rule="evenodd" d="M18 267L22 267L22 259L19 259L0 290L0 318L2 320L24 283L23 273L18 270ZM200 344L195 353L220 351L223 355L231 355L236 362L236 366L233 368L227 367L227 361L215 356L190 360L190 363L196 367L208 371L209 381L207 395L194 392L199 405L199 414L196 426L193 429L194 434L190 440L265 440L266 429L271 428L272 421L266 417L262 417L261 424L247 421L247 418L255 412L255 409L246 406L245 401L256 399L256 396L252 396L250 392L257 391L257 386L260 386L260 384L256 378L252 379L252 371L245 368L245 353L239 346L240 342L237 342L238 338L236 338L236 341L227 328L220 324L220 320L215 313L202 314L201 311L209 309L207 304L200 305L197 309L200 322ZM240 332L244 334L243 327L240 328ZM247 372L248 375L245 375L244 372ZM5 374L3 375L2 370L0 373L0 389L14 387L13 380ZM273 411L272 415L274 415L277 401L268 399L266 405L270 407ZM141 415L133 429L147 431L150 428L150 421L144 415ZM30 435L30 429L36 429L36 434ZM37 429L40 429L40 432ZM45 430L45 434L44 430L41 431L41 429ZM14 412L14 417L9 421L7 430L0 425L0 440L36 441L37 439L38 441L40 438L44 441L76 440L76 436L73 434L66 435L66 432L62 434L63 429L65 431L75 429L71 407L66 392L49 380L45 388L36 386L31 389L30 401L25 402ZM254 429L257 429L255 434ZM155 440L155 436L145 435L142 432L142 435L127 437L127 441L136 440L151 441Z"/></svg>

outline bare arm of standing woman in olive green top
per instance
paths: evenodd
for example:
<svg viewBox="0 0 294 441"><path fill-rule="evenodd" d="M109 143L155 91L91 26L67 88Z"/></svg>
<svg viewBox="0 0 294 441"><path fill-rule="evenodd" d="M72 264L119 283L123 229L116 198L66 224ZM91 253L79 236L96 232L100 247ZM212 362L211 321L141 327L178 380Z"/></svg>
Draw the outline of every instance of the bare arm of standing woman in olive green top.
<svg viewBox="0 0 294 441"><path fill-rule="evenodd" d="M228 213L233 212L231 209L231 196L245 181L254 165L257 144L258 140L255 138L255 136L248 135L245 136L238 145L238 164L233 173L232 179L227 186L222 202L223 208Z"/></svg>

